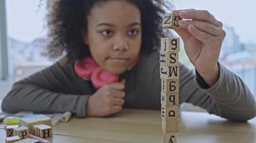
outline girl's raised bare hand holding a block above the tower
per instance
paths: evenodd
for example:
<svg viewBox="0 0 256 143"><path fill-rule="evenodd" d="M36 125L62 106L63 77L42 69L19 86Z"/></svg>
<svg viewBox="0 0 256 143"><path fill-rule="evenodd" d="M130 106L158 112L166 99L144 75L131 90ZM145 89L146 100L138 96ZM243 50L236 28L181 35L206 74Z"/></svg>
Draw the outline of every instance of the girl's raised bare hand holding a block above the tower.
<svg viewBox="0 0 256 143"><path fill-rule="evenodd" d="M175 31L184 41L188 58L206 83L213 85L219 77L219 53L226 35L221 22L209 11L186 9L173 13L181 18Z"/></svg>

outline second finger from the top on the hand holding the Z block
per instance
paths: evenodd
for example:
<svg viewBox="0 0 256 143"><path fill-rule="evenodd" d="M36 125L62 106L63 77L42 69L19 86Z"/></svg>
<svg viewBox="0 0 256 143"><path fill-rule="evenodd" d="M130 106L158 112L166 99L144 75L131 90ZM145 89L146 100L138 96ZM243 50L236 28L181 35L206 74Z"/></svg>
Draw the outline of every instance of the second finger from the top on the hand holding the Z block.
<svg viewBox="0 0 256 143"><path fill-rule="evenodd" d="M211 34L212 36L221 36L221 34L224 33L224 31L221 28L214 26L213 24L209 24L205 21L183 21L183 20L180 20L180 21L178 21L178 24L183 29L187 29L188 25L192 24L193 26L196 27L196 29L205 31L206 33Z"/></svg>

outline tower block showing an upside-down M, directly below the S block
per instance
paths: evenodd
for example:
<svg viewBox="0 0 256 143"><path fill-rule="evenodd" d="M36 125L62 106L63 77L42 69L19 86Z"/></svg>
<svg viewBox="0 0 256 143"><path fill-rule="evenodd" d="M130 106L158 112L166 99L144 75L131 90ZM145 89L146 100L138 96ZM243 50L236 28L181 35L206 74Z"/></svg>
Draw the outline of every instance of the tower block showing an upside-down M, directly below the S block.
<svg viewBox="0 0 256 143"><path fill-rule="evenodd" d="M179 79L180 67L160 65L160 79Z"/></svg>

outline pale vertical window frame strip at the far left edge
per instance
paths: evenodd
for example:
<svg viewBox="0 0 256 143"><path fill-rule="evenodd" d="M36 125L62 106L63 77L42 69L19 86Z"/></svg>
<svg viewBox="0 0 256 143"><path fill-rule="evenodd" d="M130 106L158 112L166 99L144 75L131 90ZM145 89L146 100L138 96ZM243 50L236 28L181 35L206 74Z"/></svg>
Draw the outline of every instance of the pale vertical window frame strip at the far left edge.
<svg viewBox="0 0 256 143"><path fill-rule="evenodd" d="M9 79L5 0L0 1L0 21L0 80L5 81Z"/></svg>

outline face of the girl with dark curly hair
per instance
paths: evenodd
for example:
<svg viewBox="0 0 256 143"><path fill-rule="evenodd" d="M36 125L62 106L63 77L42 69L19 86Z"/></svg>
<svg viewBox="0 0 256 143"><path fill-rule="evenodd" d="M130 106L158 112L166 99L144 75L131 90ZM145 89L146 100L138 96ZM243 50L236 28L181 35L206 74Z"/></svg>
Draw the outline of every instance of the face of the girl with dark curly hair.
<svg viewBox="0 0 256 143"><path fill-rule="evenodd" d="M140 10L127 1L102 1L87 17L83 36L93 59L107 71L121 74L139 55L142 43Z"/></svg>

